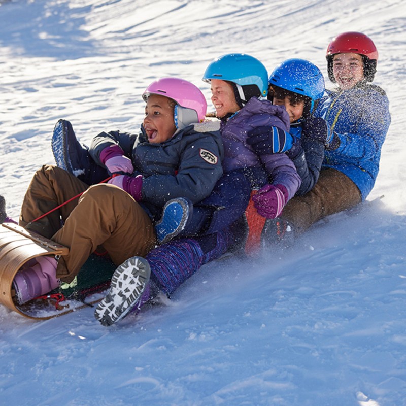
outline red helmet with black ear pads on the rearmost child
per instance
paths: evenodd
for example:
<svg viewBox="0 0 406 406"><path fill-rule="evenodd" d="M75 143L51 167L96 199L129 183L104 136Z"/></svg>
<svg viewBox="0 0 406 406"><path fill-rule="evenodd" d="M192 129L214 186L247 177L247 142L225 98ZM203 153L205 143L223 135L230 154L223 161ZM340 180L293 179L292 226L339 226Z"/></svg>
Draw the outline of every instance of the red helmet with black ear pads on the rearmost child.
<svg viewBox="0 0 406 406"><path fill-rule="evenodd" d="M328 77L335 83L332 71L333 55L352 52L362 55L364 62L364 77L367 82L374 80L377 72L378 50L374 42L362 32L343 32L332 39L328 44L326 59Z"/></svg>

